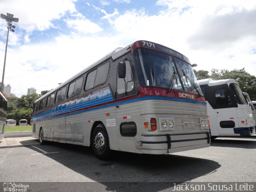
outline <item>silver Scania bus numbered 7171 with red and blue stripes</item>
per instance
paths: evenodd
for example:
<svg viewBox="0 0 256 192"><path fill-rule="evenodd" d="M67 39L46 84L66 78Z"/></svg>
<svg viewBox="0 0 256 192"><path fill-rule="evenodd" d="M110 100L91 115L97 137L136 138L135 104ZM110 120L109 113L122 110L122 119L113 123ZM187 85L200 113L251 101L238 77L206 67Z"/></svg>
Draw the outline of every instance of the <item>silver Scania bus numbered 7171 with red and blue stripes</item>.
<svg viewBox="0 0 256 192"><path fill-rule="evenodd" d="M35 101L32 136L167 154L210 146L206 102L184 55L149 41L118 48Z"/></svg>

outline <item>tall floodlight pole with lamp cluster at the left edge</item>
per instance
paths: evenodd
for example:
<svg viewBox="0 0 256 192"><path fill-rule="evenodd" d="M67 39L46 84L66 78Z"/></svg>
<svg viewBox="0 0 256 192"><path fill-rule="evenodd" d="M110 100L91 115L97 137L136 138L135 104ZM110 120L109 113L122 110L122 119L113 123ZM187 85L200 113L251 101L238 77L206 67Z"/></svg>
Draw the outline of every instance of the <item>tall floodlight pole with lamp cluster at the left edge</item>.
<svg viewBox="0 0 256 192"><path fill-rule="evenodd" d="M19 22L19 18L14 18L13 14L7 13L7 15L4 15L1 13L0 17L2 19L5 19L8 23L7 26L7 38L6 38L6 46L5 46L5 55L4 55L4 68L3 68L3 75L2 75L2 82L1 82L1 88L0 92L4 92L4 72L5 72L5 63L6 63L6 53L7 53L7 46L8 46L8 37L9 37L9 31L14 32L15 26L12 25L12 22Z"/></svg>

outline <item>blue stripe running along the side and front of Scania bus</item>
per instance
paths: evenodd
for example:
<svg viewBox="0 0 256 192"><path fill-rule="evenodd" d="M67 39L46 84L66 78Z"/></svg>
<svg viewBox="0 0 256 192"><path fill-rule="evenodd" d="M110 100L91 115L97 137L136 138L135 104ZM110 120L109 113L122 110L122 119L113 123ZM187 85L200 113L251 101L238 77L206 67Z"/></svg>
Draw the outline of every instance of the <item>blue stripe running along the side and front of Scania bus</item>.
<svg viewBox="0 0 256 192"><path fill-rule="evenodd" d="M52 108L50 110L46 110L42 113L34 115L33 121L35 122L35 121L42 120L42 119L59 118L62 116L66 116L67 115L66 113L68 113L68 115L73 115L73 114L78 114L78 113L82 113L82 112L88 112L88 111L92 111L92 110L108 108L108 107L112 107L112 106L116 106L116 105L123 105L123 104L132 103L132 102L138 102L138 101L142 101L142 100L170 100L170 101L188 102L188 103L194 103L194 104L200 104L200 105L206 106L206 102L200 102L200 101L195 101L195 100L187 100L187 99L182 99L182 98L170 98L170 97L164 97L164 96L145 96L145 97L125 100L125 101L121 101L121 102L114 102L111 104L106 104L106 105L102 105L102 106L98 106L98 107L92 107L94 105L104 104L106 102L110 102L113 100L114 99L113 99L112 95L107 95L103 98L98 98L98 99L95 99L94 101L74 105L70 108L69 107L66 108L67 105L62 104L61 106L58 106L56 108ZM73 102L76 102L76 101L73 101ZM86 108L86 107L92 107L92 108L80 110L80 109ZM58 108L58 110L56 110L57 108ZM79 111L75 111L75 110L79 110ZM74 111L74 112L72 112L72 111Z"/></svg>

